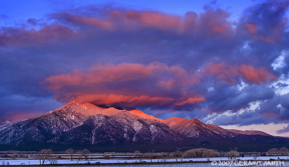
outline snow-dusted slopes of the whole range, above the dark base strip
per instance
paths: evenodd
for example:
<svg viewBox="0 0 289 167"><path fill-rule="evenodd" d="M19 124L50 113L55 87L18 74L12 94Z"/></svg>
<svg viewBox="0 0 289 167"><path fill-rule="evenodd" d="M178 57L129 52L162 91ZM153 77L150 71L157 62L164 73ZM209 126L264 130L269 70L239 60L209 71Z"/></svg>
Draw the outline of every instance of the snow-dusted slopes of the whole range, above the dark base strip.
<svg viewBox="0 0 289 167"><path fill-rule="evenodd" d="M168 143L187 139L277 142L267 135L241 134L198 119L156 118L139 110L101 108L91 103L72 101L58 109L19 122L0 126L0 144L30 143L111 145L129 143ZM267 137L267 138L264 138ZM257 139L257 140L256 140ZM281 141L281 139L280 139ZM283 142L283 139L282 139ZM286 142L286 141L284 141Z"/></svg>

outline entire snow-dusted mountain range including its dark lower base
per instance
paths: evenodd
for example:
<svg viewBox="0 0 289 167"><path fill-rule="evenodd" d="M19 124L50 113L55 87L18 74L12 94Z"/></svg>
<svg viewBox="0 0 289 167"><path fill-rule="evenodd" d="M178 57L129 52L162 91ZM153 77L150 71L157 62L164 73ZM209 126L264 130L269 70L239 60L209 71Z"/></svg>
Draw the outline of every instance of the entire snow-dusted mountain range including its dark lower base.
<svg viewBox="0 0 289 167"><path fill-rule="evenodd" d="M174 151L196 147L261 151L287 146L288 138L260 131L226 130L198 119L163 120L139 110L72 101L58 109L0 126L0 149L69 147L96 151Z"/></svg>

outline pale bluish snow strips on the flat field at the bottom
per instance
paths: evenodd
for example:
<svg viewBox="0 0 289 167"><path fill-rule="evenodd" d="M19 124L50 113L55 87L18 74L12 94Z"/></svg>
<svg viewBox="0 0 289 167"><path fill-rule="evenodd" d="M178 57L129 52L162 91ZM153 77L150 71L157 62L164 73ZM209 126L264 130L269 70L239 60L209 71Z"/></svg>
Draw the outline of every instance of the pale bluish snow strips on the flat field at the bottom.
<svg viewBox="0 0 289 167"><path fill-rule="evenodd" d="M289 156L259 156L256 157L256 159L254 159L254 157L252 156L244 156L244 157L239 157L240 160L251 160L251 161L257 161L257 160L269 160L271 159L278 159L278 157L280 159L289 159ZM114 159L93 159L93 160L69 160L69 159L57 159L54 161L54 163L57 164L85 164L85 163L90 163L90 164L95 164L95 163L132 163L132 162L140 162L140 161L147 161L147 162L175 162L175 161L228 161L229 159L226 157L213 157L213 158L174 158L174 159L125 159L125 158L114 158ZM50 164L52 163L49 160L45 161L45 164ZM10 160L3 160L0 159L0 165L32 165L32 164L40 164L39 159L10 159ZM214 166L210 163L191 163L193 164L192 166ZM166 166L191 166L188 165L188 163L185 164L166 164ZM263 164L264 165L264 164ZM284 162L284 165L289 165L289 162ZM158 165L142 165L142 166L158 166ZM162 166L164 166L164 164L162 164ZM220 165L215 165L215 166L220 166ZM238 166L238 165L222 165L222 166Z"/></svg>

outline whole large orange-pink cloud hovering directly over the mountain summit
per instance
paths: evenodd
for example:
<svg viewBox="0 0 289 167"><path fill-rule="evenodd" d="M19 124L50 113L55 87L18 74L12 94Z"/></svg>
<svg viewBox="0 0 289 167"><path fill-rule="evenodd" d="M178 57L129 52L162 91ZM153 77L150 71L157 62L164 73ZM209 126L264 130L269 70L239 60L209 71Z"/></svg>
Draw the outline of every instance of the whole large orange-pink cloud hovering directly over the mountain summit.
<svg viewBox="0 0 289 167"><path fill-rule="evenodd" d="M167 105L168 108L174 102L180 106L205 101L204 97L190 97L178 102L178 97L192 96L180 90L199 83L199 77L178 66L157 62L149 65L121 63L95 65L86 73L74 70L71 74L50 76L44 84L58 100L78 99L123 107Z"/></svg>

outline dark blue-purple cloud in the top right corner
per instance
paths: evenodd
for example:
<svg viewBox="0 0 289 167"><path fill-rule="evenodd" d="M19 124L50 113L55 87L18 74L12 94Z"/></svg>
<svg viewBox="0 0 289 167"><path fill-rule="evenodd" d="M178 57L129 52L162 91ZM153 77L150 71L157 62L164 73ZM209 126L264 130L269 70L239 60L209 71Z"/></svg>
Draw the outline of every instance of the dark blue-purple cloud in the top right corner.
<svg viewBox="0 0 289 167"><path fill-rule="evenodd" d="M284 15L288 6L288 1L267 1L252 6L244 12L240 29L246 31L254 40L282 42L287 23Z"/></svg>

